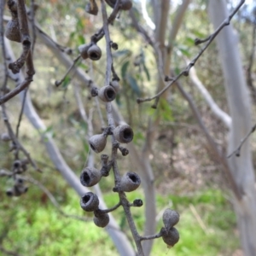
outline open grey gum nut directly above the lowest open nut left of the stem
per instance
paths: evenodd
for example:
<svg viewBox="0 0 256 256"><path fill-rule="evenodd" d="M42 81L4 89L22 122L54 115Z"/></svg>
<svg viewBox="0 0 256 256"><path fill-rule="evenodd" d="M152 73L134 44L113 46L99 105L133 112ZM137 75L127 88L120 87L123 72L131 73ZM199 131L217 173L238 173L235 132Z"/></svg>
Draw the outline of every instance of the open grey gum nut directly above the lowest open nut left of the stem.
<svg viewBox="0 0 256 256"><path fill-rule="evenodd" d="M94 167L86 167L81 172L80 182L84 187L96 185L102 178L102 173Z"/></svg>

